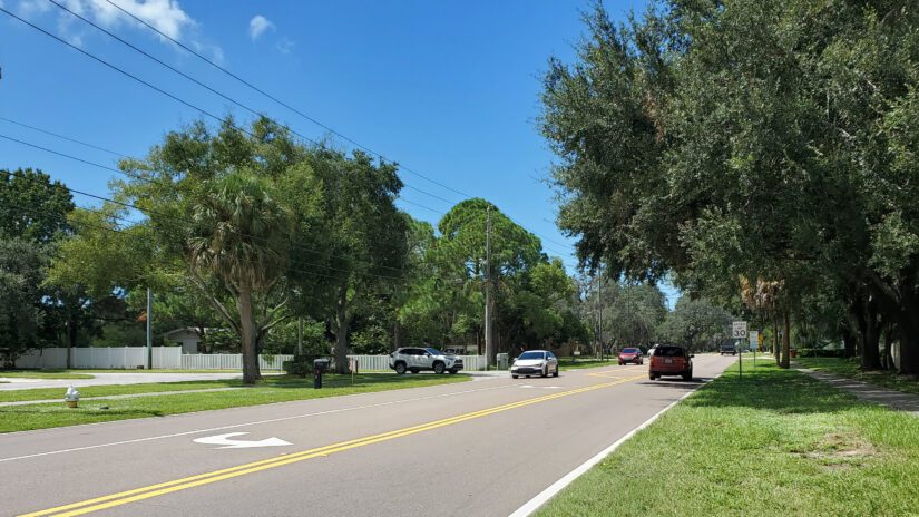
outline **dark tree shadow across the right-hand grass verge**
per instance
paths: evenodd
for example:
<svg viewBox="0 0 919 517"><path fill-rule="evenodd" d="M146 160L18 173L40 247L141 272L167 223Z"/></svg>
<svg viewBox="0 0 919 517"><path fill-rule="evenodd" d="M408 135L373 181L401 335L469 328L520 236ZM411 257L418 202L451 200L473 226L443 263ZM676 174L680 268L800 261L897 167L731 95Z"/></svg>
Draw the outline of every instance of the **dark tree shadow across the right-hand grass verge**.
<svg viewBox="0 0 919 517"><path fill-rule="evenodd" d="M691 407L741 407L778 413L825 413L862 407L854 397L793 370L775 365L737 374L735 367L684 402Z"/></svg>

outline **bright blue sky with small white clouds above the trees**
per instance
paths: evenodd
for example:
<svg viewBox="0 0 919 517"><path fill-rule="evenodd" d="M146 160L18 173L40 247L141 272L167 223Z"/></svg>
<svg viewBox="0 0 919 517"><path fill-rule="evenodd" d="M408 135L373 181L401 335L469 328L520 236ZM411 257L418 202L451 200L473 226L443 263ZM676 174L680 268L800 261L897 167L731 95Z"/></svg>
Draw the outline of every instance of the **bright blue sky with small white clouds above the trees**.
<svg viewBox="0 0 919 517"><path fill-rule="evenodd" d="M303 135L329 136L129 21L105 0L58 1ZM545 184L554 156L536 119L547 59L574 59L573 47L584 31L580 11L589 9L588 2L113 1L362 145L440 184L490 199L574 271L573 240L555 227L556 204ZM607 2L616 18L643 6ZM211 113L247 118L48 0L0 0L0 7ZM166 131L201 117L4 13L0 67L0 117L119 153L144 155ZM0 135L108 166L116 159L3 120ZM20 166L39 167L68 186L101 195L111 176L0 138L0 167ZM417 218L436 223L462 199L409 172L402 178L408 187L400 206ZM77 202L92 203L79 196ZM666 291L673 304L674 293Z"/></svg>

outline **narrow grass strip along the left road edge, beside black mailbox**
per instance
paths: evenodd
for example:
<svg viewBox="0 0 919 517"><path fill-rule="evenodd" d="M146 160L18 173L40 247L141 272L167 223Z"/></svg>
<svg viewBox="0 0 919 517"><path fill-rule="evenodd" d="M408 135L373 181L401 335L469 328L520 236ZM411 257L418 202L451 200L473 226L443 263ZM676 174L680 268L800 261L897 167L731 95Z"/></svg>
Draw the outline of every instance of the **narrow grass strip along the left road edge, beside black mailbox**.
<svg viewBox="0 0 919 517"><path fill-rule="evenodd" d="M208 409L225 409L244 406L256 406L271 402L291 400L317 399L343 394L369 393L372 391L418 388L469 380L467 375L395 375L395 374L360 374L351 375L329 374L323 378L323 388L313 389L313 379L273 377L266 378L260 386L244 390L217 391L208 393L188 393L184 396L145 397L138 399L111 399L82 401L77 409L68 409L60 403L27 404L0 407L0 432L26 431L50 427L76 426L79 423L95 423L131 418L163 417L166 414L187 413ZM177 383L179 389L221 388L222 386L239 386L237 381L222 381L224 384L214 384L214 381L204 383ZM233 382L236 382L235 384ZM188 386L192 384L192 386ZM137 384L138 387L144 384ZM160 384L169 386L169 384ZM174 388L177 386L174 384ZM119 392L136 389L135 386L98 387L120 388ZM92 388L80 389L84 397L98 396ZM37 390L29 390L37 391ZM61 390L55 390L56 398L63 397ZM166 391L166 390L159 390ZM140 391L136 391L140 392ZM115 394L115 393L108 393ZM101 409L107 406L108 409Z"/></svg>

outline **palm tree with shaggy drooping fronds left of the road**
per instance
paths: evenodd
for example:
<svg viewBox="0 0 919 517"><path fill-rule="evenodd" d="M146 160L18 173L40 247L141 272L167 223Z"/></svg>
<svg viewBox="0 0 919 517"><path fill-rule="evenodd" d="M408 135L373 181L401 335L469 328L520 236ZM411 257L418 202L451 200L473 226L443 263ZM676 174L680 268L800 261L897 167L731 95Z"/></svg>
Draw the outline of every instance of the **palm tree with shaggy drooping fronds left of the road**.
<svg viewBox="0 0 919 517"><path fill-rule="evenodd" d="M243 382L253 384L262 378L257 338L263 330L254 321L253 305L260 296L265 303L284 277L291 216L271 196L267 184L250 174L233 173L217 179L208 194L194 211L194 230L186 248L189 269L196 283L203 284L202 274L211 274L235 300L234 316L205 290L217 312L239 334Z"/></svg>

